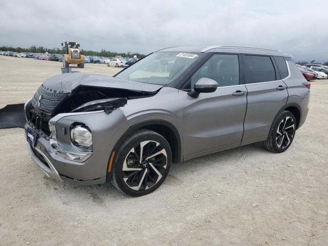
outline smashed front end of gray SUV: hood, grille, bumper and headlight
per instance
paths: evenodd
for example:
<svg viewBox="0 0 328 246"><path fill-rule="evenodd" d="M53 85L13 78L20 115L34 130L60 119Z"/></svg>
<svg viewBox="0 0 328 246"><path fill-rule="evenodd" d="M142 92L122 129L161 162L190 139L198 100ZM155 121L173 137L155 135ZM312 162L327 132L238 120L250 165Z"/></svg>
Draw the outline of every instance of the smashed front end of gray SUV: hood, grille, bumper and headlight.
<svg viewBox="0 0 328 246"><path fill-rule="evenodd" d="M25 104L27 149L34 163L57 180L103 183L110 151L129 128L118 109L161 87L85 73L46 80Z"/></svg>

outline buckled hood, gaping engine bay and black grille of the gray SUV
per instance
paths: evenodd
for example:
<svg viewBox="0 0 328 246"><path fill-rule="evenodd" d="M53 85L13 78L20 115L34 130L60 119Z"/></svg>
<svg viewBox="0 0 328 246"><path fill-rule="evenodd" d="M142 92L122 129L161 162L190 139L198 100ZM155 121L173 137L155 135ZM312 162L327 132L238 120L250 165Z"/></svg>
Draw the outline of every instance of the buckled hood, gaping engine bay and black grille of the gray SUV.
<svg viewBox="0 0 328 246"><path fill-rule="evenodd" d="M49 139L49 120L58 114L100 110L109 114L124 107L128 100L149 97L156 93L157 91L138 90L138 85L113 77L62 74L48 79L35 92L25 106L26 119L29 125Z"/></svg>

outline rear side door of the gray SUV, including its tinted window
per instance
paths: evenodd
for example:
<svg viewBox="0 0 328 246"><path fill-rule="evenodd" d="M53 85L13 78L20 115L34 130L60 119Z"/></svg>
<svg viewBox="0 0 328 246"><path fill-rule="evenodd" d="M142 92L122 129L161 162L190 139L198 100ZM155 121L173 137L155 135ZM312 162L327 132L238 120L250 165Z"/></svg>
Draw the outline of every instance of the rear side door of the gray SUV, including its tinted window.
<svg viewBox="0 0 328 246"><path fill-rule="evenodd" d="M287 102L288 92L274 57L243 55L242 61L248 91L242 142L247 144L267 137L276 114Z"/></svg>

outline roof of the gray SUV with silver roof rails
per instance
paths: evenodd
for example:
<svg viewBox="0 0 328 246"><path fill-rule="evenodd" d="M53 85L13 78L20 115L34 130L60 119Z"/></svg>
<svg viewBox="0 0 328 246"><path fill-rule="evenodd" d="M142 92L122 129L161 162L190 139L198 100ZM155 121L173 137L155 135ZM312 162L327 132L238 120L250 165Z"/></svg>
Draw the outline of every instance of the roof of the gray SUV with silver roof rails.
<svg viewBox="0 0 328 246"><path fill-rule="evenodd" d="M279 50L243 47L243 46L196 46L196 47L167 47L157 50L157 52L196 52L196 53L239 53L239 54L257 54L257 55L275 55L283 57L292 57L289 54Z"/></svg>

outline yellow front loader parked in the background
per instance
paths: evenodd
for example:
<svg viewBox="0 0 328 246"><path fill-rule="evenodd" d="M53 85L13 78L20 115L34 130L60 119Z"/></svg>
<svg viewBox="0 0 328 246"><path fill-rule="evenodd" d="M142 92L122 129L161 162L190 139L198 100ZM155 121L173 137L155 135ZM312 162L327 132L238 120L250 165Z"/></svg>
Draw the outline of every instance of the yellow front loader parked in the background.
<svg viewBox="0 0 328 246"><path fill-rule="evenodd" d="M84 55L80 54L80 44L78 42L66 41L63 46L63 67L68 68L70 64L77 64L77 67L84 68Z"/></svg>

